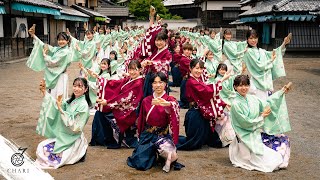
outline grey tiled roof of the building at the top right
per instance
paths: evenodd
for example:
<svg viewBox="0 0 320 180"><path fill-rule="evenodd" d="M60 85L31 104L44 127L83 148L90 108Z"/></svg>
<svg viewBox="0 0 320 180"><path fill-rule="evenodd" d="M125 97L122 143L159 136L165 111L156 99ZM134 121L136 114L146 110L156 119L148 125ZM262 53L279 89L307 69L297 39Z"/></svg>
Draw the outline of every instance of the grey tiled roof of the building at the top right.
<svg viewBox="0 0 320 180"><path fill-rule="evenodd" d="M271 12L309 12L319 6L319 0L267 0L261 1L255 7L239 16L270 14Z"/></svg>

